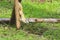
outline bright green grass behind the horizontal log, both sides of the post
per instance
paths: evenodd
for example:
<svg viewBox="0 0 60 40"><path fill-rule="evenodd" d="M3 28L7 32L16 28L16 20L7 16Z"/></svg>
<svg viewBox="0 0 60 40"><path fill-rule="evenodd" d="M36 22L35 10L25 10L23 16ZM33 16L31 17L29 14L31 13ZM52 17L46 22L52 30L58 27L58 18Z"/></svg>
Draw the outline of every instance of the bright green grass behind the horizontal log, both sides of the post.
<svg viewBox="0 0 60 40"><path fill-rule="evenodd" d="M60 3L53 2L53 3L38 4L23 1L22 5L26 17L60 18L60 6L59 6ZM10 17L13 4L8 2L2 2L0 4L0 7L1 7L0 17ZM4 15L2 16L2 14Z"/></svg>

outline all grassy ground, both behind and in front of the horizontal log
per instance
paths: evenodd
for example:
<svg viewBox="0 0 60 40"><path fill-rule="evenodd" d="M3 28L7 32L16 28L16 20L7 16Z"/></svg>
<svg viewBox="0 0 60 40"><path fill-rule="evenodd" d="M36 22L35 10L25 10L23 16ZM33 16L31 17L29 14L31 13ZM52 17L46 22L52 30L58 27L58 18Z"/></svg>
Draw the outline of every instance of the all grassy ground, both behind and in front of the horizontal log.
<svg viewBox="0 0 60 40"><path fill-rule="evenodd" d="M22 2L25 17L60 18L60 3ZM10 18L13 3L0 2L0 18ZM7 29L8 27L9 29ZM15 26L0 24L0 40L60 40L60 23L22 24L20 30Z"/></svg>

